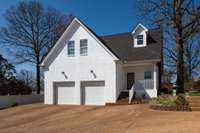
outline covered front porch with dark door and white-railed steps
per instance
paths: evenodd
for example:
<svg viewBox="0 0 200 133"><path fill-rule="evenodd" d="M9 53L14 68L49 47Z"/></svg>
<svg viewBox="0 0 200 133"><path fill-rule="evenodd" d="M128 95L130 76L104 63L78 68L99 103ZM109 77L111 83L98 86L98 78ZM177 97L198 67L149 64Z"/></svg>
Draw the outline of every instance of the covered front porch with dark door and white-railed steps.
<svg viewBox="0 0 200 133"><path fill-rule="evenodd" d="M133 99L157 97L159 68L156 62L126 63L121 71L122 84L117 92L117 101L126 99L131 103Z"/></svg>

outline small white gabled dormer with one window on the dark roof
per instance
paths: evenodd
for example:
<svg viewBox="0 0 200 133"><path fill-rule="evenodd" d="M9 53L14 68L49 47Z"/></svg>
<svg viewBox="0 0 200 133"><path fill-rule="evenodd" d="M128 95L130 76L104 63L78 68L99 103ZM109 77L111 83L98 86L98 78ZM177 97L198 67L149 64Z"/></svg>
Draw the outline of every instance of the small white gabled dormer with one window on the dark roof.
<svg viewBox="0 0 200 133"><path fill-rule="evenodd" d="M133 47L146 47L147 46L147 31L148 29L142 24L138 24L132 32Z"/></svg>

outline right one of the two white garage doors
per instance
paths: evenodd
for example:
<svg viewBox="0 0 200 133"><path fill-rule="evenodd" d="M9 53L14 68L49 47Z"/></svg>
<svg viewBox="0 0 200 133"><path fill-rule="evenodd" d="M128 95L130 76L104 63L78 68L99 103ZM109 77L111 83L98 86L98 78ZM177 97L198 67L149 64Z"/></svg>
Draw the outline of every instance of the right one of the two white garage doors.
<svg viewBox="0 0 200 133"><path fill-rule="evenodd" d="M85 105L105 105L104 81L91 81L82 84L83 104Z"/></svg>

